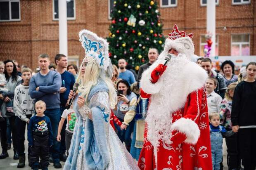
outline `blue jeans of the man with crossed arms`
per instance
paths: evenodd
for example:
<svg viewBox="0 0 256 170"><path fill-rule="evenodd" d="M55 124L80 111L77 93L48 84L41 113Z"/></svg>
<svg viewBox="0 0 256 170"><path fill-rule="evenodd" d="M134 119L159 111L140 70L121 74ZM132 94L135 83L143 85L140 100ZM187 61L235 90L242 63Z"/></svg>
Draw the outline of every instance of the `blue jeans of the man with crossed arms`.
<svg viewBox="0 0 256 170"><path fill-rule="evenodd" d="M53 162L59 162L59 147L60 142L57 141L58 126L60 120L60 109L46 109L45 116L48 116L51 120L53 146L52 146L52 159Z"/></svg>

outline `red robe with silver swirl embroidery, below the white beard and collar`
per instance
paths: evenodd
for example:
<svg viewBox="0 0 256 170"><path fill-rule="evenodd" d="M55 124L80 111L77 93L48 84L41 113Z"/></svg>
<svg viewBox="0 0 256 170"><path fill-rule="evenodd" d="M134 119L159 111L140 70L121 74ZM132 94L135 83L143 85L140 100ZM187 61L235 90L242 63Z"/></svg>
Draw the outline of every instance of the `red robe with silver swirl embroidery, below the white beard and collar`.
<svg viewBox="0 0 256 170"><path fill-rule="evenodd" d="M197 93L198 92L198 93ZM199 102L197 104L197 101ZM198 113L198 106L199 111ZM198 115L198 116L197 116ZM154 158L154 148L147 141L147 128L145 128L145 140L138 166L141 170L211 170L211 143L209 135L209 117L204 88L191 92L182 109L172 113L174 123L176 120L189 118L197 123L200 136L196 144L163 144L157 152L157 163ZM197 117L197 118L196 118ZM185 120L185 119L184 119ZM184 126L186 126L184 124Z"/></svg>

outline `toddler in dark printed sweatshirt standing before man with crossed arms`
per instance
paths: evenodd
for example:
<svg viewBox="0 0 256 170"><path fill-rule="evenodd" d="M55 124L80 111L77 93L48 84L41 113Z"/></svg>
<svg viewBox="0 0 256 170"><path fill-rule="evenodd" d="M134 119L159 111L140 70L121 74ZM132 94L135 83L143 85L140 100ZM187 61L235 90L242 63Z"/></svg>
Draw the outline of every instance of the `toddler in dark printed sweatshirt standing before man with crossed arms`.
<svg viewBox="0 0 256 170"><path fill-rule="evenodd" d="M44 115L46 104L39 100L35 104L36 115L28 124L28 146L31 147L30 164L33 170L39 168L39 156L42 170L48 170L49 148L53 145L50 118Z"/></svg>

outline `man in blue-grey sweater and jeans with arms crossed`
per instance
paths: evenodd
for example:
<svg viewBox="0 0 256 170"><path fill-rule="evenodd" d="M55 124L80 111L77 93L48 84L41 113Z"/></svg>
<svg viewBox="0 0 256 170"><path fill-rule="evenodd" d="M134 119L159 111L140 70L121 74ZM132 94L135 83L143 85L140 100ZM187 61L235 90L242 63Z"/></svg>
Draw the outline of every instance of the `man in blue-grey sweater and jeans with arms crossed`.
<svg viewBox="0 0 256 170"><path fill-rule="evenodd" d="M60 120L60 98L59 90L62 85L62 78L56 71L49 70L50 59L47 54L40 54L38 57L40 72L36 73L29 83L29 94L32 99L43 100L46 104L45 115L50 118L53 133L52 158L55 168L62 168L59 163L59 147L57 132Z"/></svg>

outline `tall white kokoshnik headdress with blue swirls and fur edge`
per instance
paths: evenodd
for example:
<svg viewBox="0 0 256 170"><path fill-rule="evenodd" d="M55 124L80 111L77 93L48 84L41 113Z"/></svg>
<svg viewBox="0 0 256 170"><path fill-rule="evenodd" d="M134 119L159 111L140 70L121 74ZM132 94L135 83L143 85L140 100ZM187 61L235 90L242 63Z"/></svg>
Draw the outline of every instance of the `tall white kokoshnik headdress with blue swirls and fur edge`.
<svg viewBox="0 0 256 170"><path fill-rule="evenodd" d="M85 49L85 56L93 57L99 68L107 71L109 66L109 47L107 41L88 30L80 31L79 38Z"/></svg>

